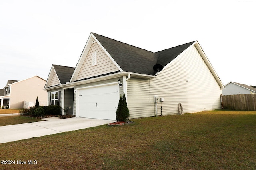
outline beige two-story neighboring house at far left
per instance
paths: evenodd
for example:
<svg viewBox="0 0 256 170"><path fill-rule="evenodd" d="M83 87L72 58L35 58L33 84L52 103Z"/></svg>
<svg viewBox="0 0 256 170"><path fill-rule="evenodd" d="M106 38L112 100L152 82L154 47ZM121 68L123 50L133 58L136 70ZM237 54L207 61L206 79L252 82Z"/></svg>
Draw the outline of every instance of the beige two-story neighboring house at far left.
<svg viewBox="0 0 256 170"><path fill-rule="evenodd" d="M2 106L9 106L10 109L23 108L24 101L47 101L47 92L44 91L46 80L34 76L25 80L8 80L4 87L4 95L0 96Z"/></svg>

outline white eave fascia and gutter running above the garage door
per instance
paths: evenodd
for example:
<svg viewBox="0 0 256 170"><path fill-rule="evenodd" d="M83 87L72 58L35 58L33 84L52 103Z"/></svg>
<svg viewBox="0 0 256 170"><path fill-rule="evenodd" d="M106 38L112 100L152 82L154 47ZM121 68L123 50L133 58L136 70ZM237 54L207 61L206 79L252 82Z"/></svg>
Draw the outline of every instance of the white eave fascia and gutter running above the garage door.
<svg viewBox="0 0 256 170"><path fill-rule="evenodd" d="M143 79L156 78L156 76L147 75L147 74L138 74L138 73L132 73L132 72L117 72L117 73L109 74L109 75L106 75L106 76L100 76L100 77L96 77L96 78L89 78L89 79L86 79L86 80L80 80L80 81L71 82L71 83L68 83L68 84L62 84L60 86L53 86L53 87L45 88L44 90L54 90L54 89L66 88L68 86L77 86L77 85L80 85L80 84L87 84L87 83L91 83L91 82L108 80L108 79L111 79L111 78L118 78L118 77L122 77L122 76L128 76L129 74L132 77L136 77L136 78L143 78Z"/></svg>

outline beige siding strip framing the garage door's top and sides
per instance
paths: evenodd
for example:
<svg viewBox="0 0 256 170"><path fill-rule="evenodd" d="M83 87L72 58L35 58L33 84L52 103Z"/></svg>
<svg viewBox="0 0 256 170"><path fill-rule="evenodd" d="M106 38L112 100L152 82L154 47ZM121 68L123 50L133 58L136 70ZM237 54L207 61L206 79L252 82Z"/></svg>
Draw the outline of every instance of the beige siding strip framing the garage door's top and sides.
<svg viewBox="0 0 256 170"><path fill-rule="evenodd" d="M88 83L88 84L81 84L78 86L75 86L75 90L77 90L78 88L85 88L85 87L90 87L90 86L97 86L97 85L102 85L102 84L108 84L108 83L113 83L113 82L118 82L118 79L121 80L121 82L123 83L123 78L112 78L112 79L108 79L108 80L104 80L104 81L98 81L98 82L93 82L93 83ZM123 87L119 88L119 95L123 94ZM75 93L74 95L74 115L76 115L76 107L77 107L77 94Z"/></svg>

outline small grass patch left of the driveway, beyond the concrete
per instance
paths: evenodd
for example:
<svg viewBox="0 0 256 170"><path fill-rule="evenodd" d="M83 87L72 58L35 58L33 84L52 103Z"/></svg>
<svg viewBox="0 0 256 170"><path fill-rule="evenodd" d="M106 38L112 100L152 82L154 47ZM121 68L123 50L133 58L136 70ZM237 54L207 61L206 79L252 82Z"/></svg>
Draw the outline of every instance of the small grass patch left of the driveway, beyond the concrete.
<svg viewBox="0 0 256 170"><path fill-rule="evenodd" d="M36 122L36 121L42 121L42 120L35 119L33 117L26 117L26 116L3 116L3 117L0 117L0 126L30 123L30 122Z"/></svg>

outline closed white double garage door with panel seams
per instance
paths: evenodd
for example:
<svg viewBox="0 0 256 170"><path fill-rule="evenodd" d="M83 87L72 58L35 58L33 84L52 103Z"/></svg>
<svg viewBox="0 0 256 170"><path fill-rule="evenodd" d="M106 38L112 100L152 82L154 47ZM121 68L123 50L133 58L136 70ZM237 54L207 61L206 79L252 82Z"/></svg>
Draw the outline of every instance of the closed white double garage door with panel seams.
<svg viewBox="0 0 256 170"><path fill-rule="evenodd" d="M80 89L79 117L116 120L118 102L118 84Z"/></svg>

